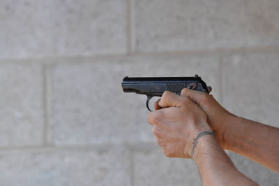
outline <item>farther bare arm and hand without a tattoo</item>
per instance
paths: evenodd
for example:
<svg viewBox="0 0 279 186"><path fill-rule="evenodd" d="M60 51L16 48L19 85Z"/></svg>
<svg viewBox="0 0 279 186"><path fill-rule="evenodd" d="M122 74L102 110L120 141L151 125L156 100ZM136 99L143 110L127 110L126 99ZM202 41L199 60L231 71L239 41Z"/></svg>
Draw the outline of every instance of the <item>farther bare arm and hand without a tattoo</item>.
<svg viewBox="0 0 279 186"><path fill-rule="evenodd" d="M279 129L229 113L212 95L184 89L181 95L195 101L207 115L218 143L225 150L252 159L279 173Z"/></svg>

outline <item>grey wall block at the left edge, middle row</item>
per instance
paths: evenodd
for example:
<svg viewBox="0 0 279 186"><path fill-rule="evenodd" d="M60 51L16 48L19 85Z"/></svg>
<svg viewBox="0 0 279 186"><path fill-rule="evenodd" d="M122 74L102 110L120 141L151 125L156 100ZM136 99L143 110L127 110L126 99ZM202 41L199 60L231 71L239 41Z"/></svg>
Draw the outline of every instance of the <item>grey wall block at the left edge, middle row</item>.
<svg viewBox="0 0 279 186"><path fill-rule="evenodd" d="M43 73L34 64L0 64L0 147L43 142Z"/></svg>

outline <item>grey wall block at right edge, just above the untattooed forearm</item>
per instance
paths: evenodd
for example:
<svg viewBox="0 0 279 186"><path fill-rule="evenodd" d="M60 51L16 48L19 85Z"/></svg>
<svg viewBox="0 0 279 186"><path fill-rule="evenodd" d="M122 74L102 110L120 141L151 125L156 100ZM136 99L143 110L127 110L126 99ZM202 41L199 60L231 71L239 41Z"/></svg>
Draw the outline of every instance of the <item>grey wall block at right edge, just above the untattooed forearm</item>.
<svg viewBox="0 0 279 186"><path fill-rule="evenodd" d="M224 58L224 106L250 120L279 127L278 51L234 53Z"/></svg>

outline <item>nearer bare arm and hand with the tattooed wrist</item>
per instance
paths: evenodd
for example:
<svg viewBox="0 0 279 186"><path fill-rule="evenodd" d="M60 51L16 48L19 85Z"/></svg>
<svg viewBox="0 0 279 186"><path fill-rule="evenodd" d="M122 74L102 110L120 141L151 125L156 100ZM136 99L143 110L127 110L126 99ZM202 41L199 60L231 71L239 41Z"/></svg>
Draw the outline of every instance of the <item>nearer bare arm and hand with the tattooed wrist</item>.
<svg viewBox="0 0 279 186"><path fill-rule="evenodd" d="M257 185L236 170L216 138L212 135L197 138L204 131L212 132L206 114L197 104L186 96L165 92L158 106L162 109L149 113L147 119L165 156L190 158L196 138L193 159L203 185Z"/></svg>

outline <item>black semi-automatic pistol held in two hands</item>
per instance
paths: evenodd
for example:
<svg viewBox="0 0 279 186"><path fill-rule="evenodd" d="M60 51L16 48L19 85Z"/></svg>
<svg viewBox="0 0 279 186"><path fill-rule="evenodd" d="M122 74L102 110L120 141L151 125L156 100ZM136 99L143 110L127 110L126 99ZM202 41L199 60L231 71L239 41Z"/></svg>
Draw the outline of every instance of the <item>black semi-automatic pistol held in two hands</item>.
<svg viewBox="0 0 279 186"><path fill-rule="evenodd" d="M136 94L144 94L147 96L146 107L149 108L149 100L153 96L162 96L167 90L180 95L183 88L198 90L209 94L211 87L199 76L194 77L142 77L129 78L126 76L122 81L124 92L135 92Z"/></svg>

